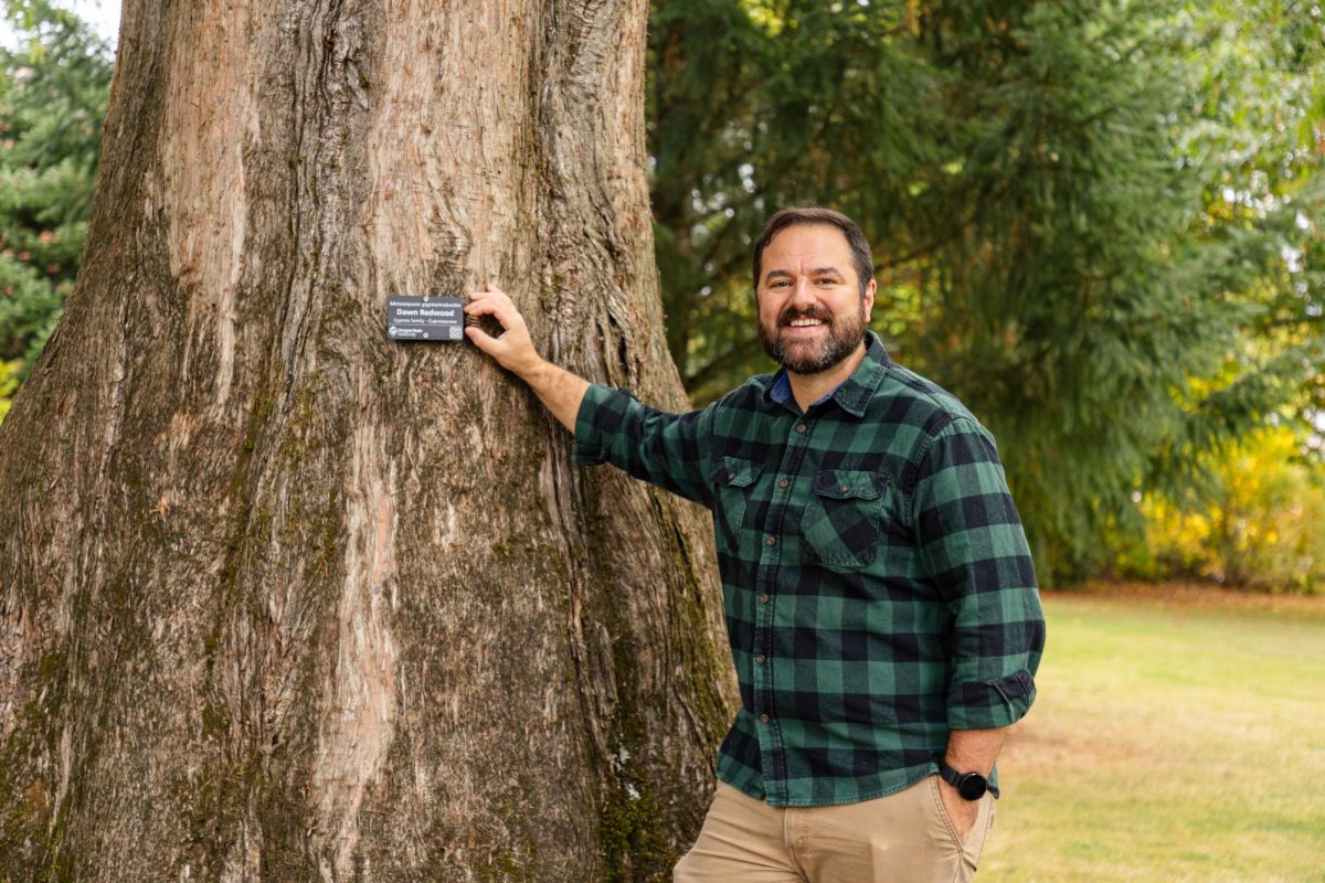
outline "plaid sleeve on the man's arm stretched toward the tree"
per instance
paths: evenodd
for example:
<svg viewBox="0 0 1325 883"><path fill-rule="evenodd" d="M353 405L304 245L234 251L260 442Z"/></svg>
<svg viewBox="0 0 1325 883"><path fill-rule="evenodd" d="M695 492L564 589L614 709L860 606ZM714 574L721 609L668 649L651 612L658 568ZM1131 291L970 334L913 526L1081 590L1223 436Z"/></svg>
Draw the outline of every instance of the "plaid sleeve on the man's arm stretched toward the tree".
<svg viewBox="0 0 1325 883"><path fill-rule="evenodd" d="M612 463L686 499L709 506L713 406L681 414L640 404L624 389L591 384L575 416L580 465Z"/></svg>

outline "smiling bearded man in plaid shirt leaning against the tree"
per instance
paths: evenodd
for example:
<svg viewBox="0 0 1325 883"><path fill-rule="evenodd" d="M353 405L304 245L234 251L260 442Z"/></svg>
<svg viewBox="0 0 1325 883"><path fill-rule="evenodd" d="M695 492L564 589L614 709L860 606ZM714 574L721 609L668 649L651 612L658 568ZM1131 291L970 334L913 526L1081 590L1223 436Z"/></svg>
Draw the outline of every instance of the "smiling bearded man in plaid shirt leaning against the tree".
<svg viewBox="0 0 1325 883"><path fill-rule="evenodd" d="M782 364L668 414L543 361L510 299L465 334L608 461L713 510L741 708L692 883L970 880L994 760L1035 698L1044 620L994 440L868 331L873 258L843 214L796 208L754 246Z"/></svg>

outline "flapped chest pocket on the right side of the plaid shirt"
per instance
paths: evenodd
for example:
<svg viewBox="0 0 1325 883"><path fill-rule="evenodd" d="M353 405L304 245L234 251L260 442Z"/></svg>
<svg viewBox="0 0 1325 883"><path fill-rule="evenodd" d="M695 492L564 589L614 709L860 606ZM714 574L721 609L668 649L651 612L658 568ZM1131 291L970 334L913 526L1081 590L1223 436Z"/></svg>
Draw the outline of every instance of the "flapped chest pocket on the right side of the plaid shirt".
<svg viewBox="0 0 1325 883"><path fill-rule="evenodd" d="M847 469L816 473L800 518L806 559L837 568L873 561L888 482L881 473Z"/></svg>

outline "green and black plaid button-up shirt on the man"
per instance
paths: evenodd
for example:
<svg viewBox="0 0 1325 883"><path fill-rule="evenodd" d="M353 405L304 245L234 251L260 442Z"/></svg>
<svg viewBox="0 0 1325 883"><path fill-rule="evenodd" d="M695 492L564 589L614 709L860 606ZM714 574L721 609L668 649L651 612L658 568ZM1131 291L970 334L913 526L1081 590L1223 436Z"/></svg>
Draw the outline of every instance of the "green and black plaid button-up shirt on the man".
<svg viewBox="0 0 1325 883"><path fill-rule="evenodd" d="M950 729L1020 719L1044 614L994 440L869 335L802 413L784 372L670 414L591 387L575 459L713 511L741 708L718 777L772 806L881 797Z"/></svg>

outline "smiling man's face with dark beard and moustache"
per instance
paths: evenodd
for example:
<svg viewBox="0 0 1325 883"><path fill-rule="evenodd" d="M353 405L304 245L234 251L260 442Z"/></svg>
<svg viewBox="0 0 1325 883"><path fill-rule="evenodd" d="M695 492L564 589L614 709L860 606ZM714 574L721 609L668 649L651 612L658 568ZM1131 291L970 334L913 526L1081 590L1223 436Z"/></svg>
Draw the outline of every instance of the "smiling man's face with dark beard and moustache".
<svg viewBox="0 0 1325 883"><path fill-rule="evenodd" d="M864 342L874 281L861 298L851 246L836 226L779 230L763 250L759 273L763 348L791 373L828 371Z"/></svg>

